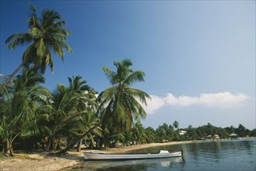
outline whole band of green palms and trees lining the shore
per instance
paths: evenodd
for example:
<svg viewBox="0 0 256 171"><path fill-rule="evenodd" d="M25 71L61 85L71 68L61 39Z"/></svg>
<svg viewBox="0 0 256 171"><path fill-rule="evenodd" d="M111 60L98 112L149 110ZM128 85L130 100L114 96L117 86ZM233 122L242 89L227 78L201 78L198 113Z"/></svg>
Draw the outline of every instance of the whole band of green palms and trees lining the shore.
<svg viewBox="0 0 256 171"><path fill-rule="evenodd" d="M205 140L219 134L229 138L232 133L240 137L255 136L240 124L238 127L179 128L173 124L143 127L146 117L142 104L150 96L132 88L136 82L144 82L145 73L132 70L132 61L114 61L116 71L103 67L110 87L96 92L80 76L68 77L68 85L58 84L51 91L44 87L47 66L54 69L53 54L64 60L64 51L72 52L66 44L70 35L65 21L54 10L44 10L41 18L30 5L28 33L16 33L5 41L10 50L28 45L22 55L22 64L12 75L0 82L0 148L5 155L13 149L80 149L107 148L115 145L134 145L153 142ZM21 69L22 68L22 69ZM19 72L19 70L21 71ZM18 75L16 75L19 72ZM181 134L181 131L186 131Z"/></svg>

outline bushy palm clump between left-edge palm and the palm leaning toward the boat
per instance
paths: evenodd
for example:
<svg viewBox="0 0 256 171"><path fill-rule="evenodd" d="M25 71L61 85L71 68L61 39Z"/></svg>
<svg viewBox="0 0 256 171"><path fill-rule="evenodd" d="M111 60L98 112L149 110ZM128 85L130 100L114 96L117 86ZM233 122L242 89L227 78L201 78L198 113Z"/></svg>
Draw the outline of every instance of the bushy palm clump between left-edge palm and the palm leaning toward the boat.
<svg viewBox="0 0 256 171"><path fill-rule="evenodd" d="M99 121L93 110L93 99L96 99L95 96L91 98L93 89L80 79L80 76L68 78L69 87L58 84L51 95L45 98L44 105L40 106L40 111L49 118L44 124L51 130L47 133L50 137L47 150L51 149L54 138L65 135L69 137L69 141L74 141L75 137L79 137ZM99 131L96 129L94 132Z"/></svg>

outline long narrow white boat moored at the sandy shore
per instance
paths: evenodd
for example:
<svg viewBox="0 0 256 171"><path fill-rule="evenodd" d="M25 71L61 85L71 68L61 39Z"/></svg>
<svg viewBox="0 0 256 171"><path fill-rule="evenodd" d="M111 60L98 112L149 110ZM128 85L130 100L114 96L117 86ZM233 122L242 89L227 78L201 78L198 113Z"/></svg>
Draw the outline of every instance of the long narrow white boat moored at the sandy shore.
<svg viewBox="0 0 256 171"><path fill-rule="evenodd" d="M85 152L85 159L89 160L117 160L117 159L159 159L159 158L170 158L170 157L182 157L183 152L168 152L161 150L158 154L106 154L106 153L95 153Z"/></svg>

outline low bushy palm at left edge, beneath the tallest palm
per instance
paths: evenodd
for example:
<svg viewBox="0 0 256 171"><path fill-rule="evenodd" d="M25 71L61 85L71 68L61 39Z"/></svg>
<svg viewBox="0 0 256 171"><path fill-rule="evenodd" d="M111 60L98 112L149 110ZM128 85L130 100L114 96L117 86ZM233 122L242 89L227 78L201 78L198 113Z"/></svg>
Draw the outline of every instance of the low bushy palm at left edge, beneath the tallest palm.
<svg viewBox="0 0 256 171"><path fill-rule="evenodd" d="M47 95L48 90L39 86L44 77L33 69L23 69L21 75L14 80L14 86L7 87L2 82L0 110L0 138L4 143L4 151L12 155L12 142L19 136L29 136L40 133L38 120L44 115L38 115L39 102ZM3 91L4 90L4 91Z"/></svg>

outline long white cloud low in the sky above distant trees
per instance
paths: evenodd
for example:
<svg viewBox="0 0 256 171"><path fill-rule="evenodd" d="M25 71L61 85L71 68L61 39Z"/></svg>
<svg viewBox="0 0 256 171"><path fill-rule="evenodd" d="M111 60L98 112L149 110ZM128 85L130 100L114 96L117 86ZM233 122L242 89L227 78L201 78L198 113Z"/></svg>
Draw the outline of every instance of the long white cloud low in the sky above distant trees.
<svg viewBox="0 0 256 171"><path fill-rule="evenodd" d="M234 107L244 103L248 96L230 92L201 94L200 96L174 96L168 93L166 97L151 95L148 106L144 106L147 113L154 113L163 106L204 106L204 107Z"/></svg>

